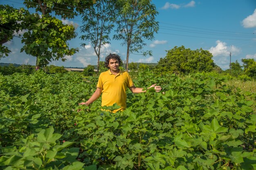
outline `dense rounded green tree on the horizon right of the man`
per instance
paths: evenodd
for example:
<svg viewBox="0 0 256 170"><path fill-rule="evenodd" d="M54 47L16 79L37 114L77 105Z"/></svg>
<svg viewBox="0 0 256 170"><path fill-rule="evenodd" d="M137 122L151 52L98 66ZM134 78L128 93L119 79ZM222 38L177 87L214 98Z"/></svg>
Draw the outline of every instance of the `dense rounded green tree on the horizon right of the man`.
<svg viewBox="0 0 256 170"><path fill-rule="evenodd" d="M168 50L166 57L160 58L157 70L161 72L192 73L213 70L213 55L208 50L191 50L184 46Z"/></svg>

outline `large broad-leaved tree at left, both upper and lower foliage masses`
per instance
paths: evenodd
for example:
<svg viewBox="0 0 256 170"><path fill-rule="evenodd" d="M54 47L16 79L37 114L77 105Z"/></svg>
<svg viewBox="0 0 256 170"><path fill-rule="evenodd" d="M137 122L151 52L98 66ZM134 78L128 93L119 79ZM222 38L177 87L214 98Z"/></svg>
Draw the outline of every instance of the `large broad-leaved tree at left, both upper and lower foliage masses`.
<svg viewBox="0 0 256 170"><path fill-rule="evenodd" d="M27 8L35 8L33 17L27 19L28 31L24 34L22 48L27 54L37 57L36 69L52 60L65 61L66 55L72 55L78 48L69 48L68 40L76 37L74 26L65 25L52 15L70 19L82 13L94 0L26 0Z"/></svg>

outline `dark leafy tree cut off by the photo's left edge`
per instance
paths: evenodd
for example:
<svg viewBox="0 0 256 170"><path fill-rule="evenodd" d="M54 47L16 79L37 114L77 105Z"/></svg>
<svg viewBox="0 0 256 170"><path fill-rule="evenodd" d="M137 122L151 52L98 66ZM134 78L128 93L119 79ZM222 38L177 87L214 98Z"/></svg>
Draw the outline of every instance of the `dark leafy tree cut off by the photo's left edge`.
<svg viewBox="0 0 256 170"><path fill-rule="evenodd" d="M2 44L10 41L14 33L24 29L23 20L29 15L24 8L15 9L9 5L0 5L0 58L8 56L11 51Z"/></svg>

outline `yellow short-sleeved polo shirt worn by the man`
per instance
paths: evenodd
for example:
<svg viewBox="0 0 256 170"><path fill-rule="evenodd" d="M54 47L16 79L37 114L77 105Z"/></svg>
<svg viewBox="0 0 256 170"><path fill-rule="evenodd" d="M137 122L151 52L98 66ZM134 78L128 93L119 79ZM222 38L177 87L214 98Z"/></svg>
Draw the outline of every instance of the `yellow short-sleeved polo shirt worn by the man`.
<svg viewBox="0 0 256 170"><path fill-rule="evenodd" d="M114 75L110 70L99 75L97 87L101 89L101 106L112 106L115 103L121 108L113 111L114 113L126 108L126 89L134 84L132 78L125 71L119 71Z"/></svg>

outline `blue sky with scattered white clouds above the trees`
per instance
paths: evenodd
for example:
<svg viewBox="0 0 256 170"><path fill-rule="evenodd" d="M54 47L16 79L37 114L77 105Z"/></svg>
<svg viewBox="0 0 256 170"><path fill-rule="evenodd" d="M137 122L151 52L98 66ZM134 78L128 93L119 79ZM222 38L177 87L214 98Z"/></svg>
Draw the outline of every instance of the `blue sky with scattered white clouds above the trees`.
<svg viewBox="0 0 256 170"><path fill-rule="evenodd" d="M256 60L256 0L152 0L152 3L159 12L159 31L154 40L145 41L147 45L144 50L151 50L153 56L130 54L129 63L157 63L166 56L166 50L182 45L191 50L209 50L213 54L213 61L223 70L229 68L230 52L231 62L238 60L241 63L241 59L245 58ZM23 0L1 0L0 4L24 7ZM65 67L96 65L97 57L93 48L90 45L84 48L80 46L83 43L79 39L81 17L63 22L77 27L78 36L69 43L70 47L79 47L80 51L74 56L67 56L65 62L52 61L50 64ZM123 60L126 59L126 46L121 46L121 41L116 40L110 43L103 47L101 61L109 53L117 53ZM0 59L1 63L35 65L35 57L20 53L23 46L20 39L13 38L4 45L12 52Z"/></svg>

